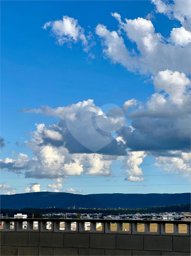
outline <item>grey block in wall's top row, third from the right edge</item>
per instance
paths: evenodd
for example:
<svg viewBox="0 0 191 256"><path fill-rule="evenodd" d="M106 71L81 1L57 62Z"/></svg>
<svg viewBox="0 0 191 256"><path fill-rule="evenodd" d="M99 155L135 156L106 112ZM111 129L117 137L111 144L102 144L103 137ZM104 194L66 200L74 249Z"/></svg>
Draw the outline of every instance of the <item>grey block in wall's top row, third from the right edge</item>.
<svg viewBox="0 0 191 256"><path fill-rule="evenodd" d="M143 235L118 234L117 249L143 250Z"/></svg>

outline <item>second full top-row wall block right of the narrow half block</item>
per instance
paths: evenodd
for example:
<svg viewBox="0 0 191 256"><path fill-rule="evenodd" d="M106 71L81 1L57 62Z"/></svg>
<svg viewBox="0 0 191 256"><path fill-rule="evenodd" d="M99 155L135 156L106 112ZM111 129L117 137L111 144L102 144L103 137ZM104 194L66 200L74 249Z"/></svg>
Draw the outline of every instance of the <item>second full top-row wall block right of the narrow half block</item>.
<svg viewBox="0 0 191 256"><path fill-rule="evenodd" d="M64 247L89 247L89 234L65 234Z"/></svg>

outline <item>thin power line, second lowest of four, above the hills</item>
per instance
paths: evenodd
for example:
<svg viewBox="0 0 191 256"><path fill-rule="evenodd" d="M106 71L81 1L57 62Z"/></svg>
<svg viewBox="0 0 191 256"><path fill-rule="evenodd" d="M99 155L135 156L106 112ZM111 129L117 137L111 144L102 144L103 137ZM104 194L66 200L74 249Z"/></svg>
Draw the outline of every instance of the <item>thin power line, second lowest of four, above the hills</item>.
<svg viewBox="0 0 191 256"><path fill-rule="evenodd" d="M177 175L191 175L191 173L184 173L184 174L156 174L156 175L134 175L135 177L151 177L151 176L177 176ZM124 175L124 176L101 176L101 177L65 177L65 178L125 178L125 177L130 177L130 175ZM31 177L33 178L33 177ZM52 177L51 177L52 178ZM58 177L56 177L58 178ZM3 179L3 178L1 178ZM10 178L12 179L12 178ZM20 178L22 179L22 178ZM26 179L26 178L25 178ZM49 179L49 178L48 178Z"/></svg>

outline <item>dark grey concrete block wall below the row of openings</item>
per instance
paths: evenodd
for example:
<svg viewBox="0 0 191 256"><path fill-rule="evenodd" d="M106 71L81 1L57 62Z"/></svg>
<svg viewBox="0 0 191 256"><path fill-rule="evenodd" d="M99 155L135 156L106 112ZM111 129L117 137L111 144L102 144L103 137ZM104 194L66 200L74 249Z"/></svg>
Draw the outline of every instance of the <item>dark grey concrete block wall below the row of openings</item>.
<svg viewBox="0 0 191 256"><path fill-rule="evenodd" d="M1 232L1 256L190 256L190 236Z"/></svg>

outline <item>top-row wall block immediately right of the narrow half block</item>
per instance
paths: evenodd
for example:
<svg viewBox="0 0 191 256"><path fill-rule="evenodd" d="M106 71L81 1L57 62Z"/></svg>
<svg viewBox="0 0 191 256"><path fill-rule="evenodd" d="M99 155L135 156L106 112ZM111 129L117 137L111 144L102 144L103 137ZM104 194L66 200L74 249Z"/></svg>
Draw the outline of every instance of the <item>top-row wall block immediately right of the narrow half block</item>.
<svg viewBox="0 0 191 256"><path fill-rule="evenodd" d="M62 233L40 233L40 246L63 247L64 234Z"/></svg>

